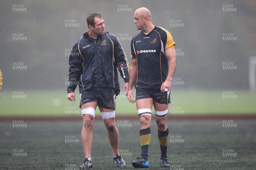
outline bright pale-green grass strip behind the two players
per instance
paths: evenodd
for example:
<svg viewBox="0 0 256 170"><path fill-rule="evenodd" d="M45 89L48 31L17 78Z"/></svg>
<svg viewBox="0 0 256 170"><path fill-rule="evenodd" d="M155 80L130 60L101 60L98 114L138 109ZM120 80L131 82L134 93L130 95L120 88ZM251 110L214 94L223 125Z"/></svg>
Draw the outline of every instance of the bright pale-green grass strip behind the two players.
<svg viewBox="0 0 256 170"><path fill-rule="evenodd" d="M228 94L223 94L223 93ZM0 116L80 116L79 93L76 102L66 98L66 91L3 91ZM250 91L172 90L169 113L177 114L256 114L256 93ZM172 110L174 112L171 112ZM97 109L97 112L99 110ZM125 94L116 98L116 113L137 115L135 104Z"/></svg>

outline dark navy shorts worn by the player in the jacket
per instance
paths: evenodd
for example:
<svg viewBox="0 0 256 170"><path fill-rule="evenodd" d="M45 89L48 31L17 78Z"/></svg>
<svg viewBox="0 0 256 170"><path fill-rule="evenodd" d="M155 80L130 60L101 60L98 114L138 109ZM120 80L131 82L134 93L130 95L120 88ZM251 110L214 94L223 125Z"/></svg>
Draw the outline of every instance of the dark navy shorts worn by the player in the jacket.
<svg viewBox="0 0 256 170"><path fill-rule="evenodd" d="M106 109L116 109L115 88L90 88L80 92L81 105L89 102L98 102L98 106Z"/></svg>

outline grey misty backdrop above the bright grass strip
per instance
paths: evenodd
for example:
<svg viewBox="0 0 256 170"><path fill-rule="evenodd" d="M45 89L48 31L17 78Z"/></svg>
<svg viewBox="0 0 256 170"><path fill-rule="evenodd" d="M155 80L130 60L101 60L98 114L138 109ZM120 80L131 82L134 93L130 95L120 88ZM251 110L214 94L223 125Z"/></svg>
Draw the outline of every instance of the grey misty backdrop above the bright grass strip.
<svg viewBox="0 0 256 170"><path fill-rule="evenodd" d="M256 56L255 0L8 0L0 6L3 91L66 93L71 49L88 31L87 14L102 14L129 63L134 11L146 7L153 24L176 43L172 88L249 90L249 58ZM119 77L120 83L123 80Z"/></svg>

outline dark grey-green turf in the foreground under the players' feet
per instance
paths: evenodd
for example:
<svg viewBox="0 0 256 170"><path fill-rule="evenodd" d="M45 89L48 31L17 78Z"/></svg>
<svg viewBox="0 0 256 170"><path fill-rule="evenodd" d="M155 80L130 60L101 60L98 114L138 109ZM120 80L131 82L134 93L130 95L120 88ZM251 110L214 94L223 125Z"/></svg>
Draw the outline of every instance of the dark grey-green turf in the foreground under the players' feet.
<svg viewBox="0 0 256 170"><path fill-rule="evenodd" d="M127 122L128 121L128 122ZM121 124L128 124L120 127ZM17 122L15 123L17 124ZM152 120L149 163L151 170L255 170L256 122L234 120L236 127L223 127L222 120L168 121L168 156L171 167L160 168L157 129ZM76 170L83 162L80 121L13 122L0 124L1 170ZM134 169L131 161L140 156L139 121L116 118L119 126L119 150L125 169ZM123 125L122 125L123 126ZM111 146L102 121L93 129L94 170L114 170ZM73 136L73 137L72 137ZM76 140L67 141L73 138ZM178 141L172 139L179 139ZM179 169L178 169L179 168Z"/></svg>

